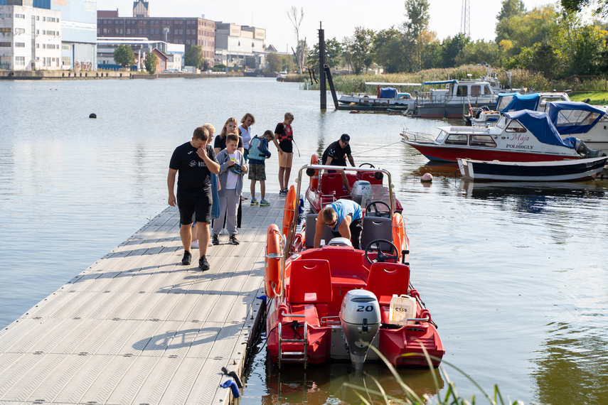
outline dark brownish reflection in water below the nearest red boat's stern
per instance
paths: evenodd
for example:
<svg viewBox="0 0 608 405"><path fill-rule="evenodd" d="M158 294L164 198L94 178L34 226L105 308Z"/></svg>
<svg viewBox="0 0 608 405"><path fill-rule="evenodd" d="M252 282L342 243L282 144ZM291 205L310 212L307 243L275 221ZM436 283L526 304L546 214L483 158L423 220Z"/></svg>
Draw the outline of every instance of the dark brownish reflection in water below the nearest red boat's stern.
<svg viewBox="0 0 608 405"><path fill-rule="evenodd" d="M430 370L398 369L405 384L411 387L418 396L437 394L444 387L438 370L434 370L439 387L435 387ZM262 396L263 404L334 404L343 401L355 404L360 401L355 390L345 387L351 384L358 389L370 403L383 401L381 397L371 394L378 392L374 379L383 387L388 396L405 399L400 384L384 365L366 364L363 372L356 372L346 363L331 363L320 367L309 367L304 370L302 365L283 367L279 369L267 362L266 367L267 394Z"/></svg>

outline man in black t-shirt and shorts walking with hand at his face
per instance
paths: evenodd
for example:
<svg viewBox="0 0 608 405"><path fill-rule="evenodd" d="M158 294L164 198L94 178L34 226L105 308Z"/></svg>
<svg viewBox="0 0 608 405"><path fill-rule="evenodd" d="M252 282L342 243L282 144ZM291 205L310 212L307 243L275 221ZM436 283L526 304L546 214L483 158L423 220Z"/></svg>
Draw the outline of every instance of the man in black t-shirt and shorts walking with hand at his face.
<svg viewBox="0 0 608 405"><path fill-rule="evenodd" d="M169 205L179 208L181 224L179 236L183 244L182 264L190 264L192 254L192 222L198 224L199 255L198 266L205 271L210 268L207 261L209 244L209 222L211 222L211 173L220 173L220 165L215 159L215 152L207 145L209 131L202 126L194 130L192 140L178 146L169 162L167 187L169 188ZM175 176L177 180L177 198L174 194Z"/></svg>

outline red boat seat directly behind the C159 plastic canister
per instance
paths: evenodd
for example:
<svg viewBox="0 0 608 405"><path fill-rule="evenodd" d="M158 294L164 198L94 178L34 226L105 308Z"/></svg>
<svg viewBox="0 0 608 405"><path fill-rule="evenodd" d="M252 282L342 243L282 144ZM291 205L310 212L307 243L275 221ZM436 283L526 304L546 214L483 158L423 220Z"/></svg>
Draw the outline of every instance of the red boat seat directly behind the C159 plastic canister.
<svg viewBox="0 0 608 405"><path fill-rule="evenodd" d="M393 294L410 291L410 267L399 263L372 264L366 290L374 293L381 306L390 305Z"/></svg>

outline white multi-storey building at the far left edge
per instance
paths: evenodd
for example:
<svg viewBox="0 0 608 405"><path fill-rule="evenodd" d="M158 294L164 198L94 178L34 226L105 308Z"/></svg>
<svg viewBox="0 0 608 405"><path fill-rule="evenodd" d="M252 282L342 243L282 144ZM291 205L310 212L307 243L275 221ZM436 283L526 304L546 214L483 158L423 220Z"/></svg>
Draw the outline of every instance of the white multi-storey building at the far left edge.
<svg viewBox="0 0 608 405"><path fill-rule="evenodd" d="M31 0L18 3L23 5L0 6L0 68L60 70L60 11L34 8Z"/></svg>

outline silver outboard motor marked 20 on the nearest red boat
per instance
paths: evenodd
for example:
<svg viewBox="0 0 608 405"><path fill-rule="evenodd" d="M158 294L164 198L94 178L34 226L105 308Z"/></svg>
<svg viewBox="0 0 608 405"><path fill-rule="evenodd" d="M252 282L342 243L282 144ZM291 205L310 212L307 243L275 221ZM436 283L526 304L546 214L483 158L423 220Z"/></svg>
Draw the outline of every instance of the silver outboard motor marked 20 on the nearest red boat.
<svg viewBox="0 0 608 405"><path fill-rule="evenodd" d="M369 345L380 329L378 299L371 291L348 291L342 300L340 323L351 353L351 362L355 369L363 369Z"/></svg>

